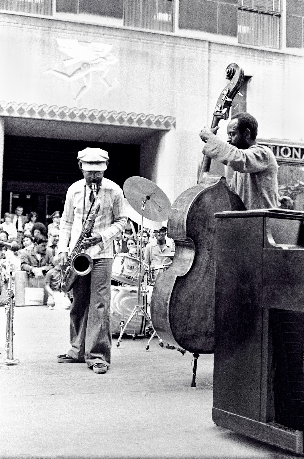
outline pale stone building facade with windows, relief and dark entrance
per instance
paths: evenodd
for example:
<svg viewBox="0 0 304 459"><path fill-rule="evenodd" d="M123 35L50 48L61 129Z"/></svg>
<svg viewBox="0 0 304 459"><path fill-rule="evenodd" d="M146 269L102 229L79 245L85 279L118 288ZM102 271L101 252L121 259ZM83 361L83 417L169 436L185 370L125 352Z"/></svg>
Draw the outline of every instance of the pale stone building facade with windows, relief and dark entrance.
<svg viewBox="0 0 304 459"><path fill-rule="evenodd" d="M173 202L196 184L231 62L245 73L234 110L258 119L280 193L303 209L303 1L0 0L0 22L1 216L61 210L84 146L109 151L119 185L141 175Z"/></svg>

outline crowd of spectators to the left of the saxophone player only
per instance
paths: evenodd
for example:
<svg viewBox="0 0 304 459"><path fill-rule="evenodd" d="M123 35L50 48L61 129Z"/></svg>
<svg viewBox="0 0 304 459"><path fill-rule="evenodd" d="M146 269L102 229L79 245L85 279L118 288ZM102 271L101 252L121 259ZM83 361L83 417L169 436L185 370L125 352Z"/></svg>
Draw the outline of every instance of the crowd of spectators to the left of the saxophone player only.
<svg viewBox="0 0 304 459"><path fill-rule="evenodd" d="M18 206L14 214L5 213L0 224L0 241L7 243L0 246L0 294L8 281L8 265L13 263L16 270L26 271L30 278L45 280L48 292L48 305L55 307L55 292L60 267L58 265L57 244L59 239L60 213L54 212L50 218L53 223L46 226L38 221L38 214L31 212L23 215L23 207ZM19 246L19 250L11 250ZM61 293L61 292L60 292ZM2 296L3 297L3 296ZM59 298L57 297L59 300ZM66 304L66 302L65 302Z"/></svg>

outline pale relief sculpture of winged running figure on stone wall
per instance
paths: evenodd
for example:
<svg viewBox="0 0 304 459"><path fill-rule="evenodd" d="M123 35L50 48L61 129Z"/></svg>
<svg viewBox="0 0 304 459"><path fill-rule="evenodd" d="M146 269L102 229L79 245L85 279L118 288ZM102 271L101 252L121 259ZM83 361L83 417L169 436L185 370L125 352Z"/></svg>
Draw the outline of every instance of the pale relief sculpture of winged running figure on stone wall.
<svg viewBox="0 0 304 459"><path fill-rule="evenodd" d="M66 81L82 79L83 86L75 95L75 101L79 101L91 89L92 72L99 72L99 80L105 86L101 95L107 94L119 84L117 78L111 84L106 79L110 66L118 62L118 59L111 52L113 45L66 38L57 38L56 40L59 50L69 56L63 60L64 67L76 66L77 68L72 73L68 73L59 71L58 66L55 66L46 70L44 74L52 73Z"/></svg>

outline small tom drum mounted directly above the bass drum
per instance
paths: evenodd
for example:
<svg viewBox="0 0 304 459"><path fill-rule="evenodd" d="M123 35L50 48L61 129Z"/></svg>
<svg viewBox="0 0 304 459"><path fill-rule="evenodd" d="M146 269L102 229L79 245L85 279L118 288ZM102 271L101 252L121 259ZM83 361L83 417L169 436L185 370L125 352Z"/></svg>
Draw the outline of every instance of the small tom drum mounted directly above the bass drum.
<svg viewBox="0 0 304 459"><path fill-rule="evenodd" d="M142 263L141 279L143 280L147 265ZM122 284L138 285L139 257L128 253L116 253L112 266L112 279Z"/></svg>

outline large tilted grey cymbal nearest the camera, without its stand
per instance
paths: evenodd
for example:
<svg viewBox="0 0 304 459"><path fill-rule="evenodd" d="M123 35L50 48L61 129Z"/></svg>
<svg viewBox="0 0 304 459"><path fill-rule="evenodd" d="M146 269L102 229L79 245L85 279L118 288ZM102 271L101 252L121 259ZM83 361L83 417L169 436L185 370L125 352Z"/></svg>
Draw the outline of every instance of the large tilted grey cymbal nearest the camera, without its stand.
<svg viewBox="0 0 304 459"><path fill-rule="evenodd" d="M151 180L138 176L129 177L123 185L123 191L131 207L140 215L142 201L145 201L145 218L154 222L167 220L171 202L163 190Z"/></svg>

